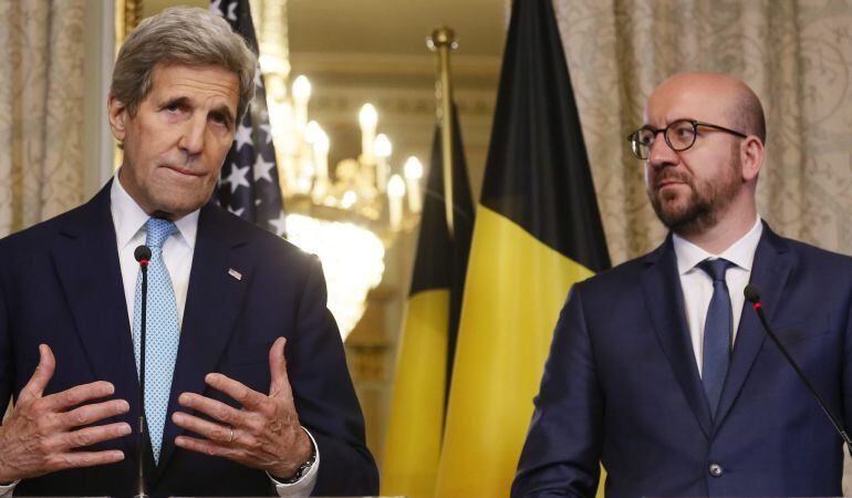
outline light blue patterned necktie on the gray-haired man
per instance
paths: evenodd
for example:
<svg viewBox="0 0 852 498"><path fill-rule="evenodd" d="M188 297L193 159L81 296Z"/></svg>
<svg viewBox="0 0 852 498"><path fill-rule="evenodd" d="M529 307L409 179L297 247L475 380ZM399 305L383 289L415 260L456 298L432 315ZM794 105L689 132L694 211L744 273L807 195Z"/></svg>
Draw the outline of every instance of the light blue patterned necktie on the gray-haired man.
<svg viewBox="0 0 852 498"><path fill-rule="evenodd" d="M149 218L145 224L148 235L145 245L150 248L148 263L148 303L145 338L145 416L150 435L154 460L159 464L163 426L172 391L179 328L177 302L172 278L163 261L163 243L177 231L172 221ZM139 372L139 328L142 326L142 272L136 278L136 298L133 305L133 347L136 354L136 372Z"/></svg>

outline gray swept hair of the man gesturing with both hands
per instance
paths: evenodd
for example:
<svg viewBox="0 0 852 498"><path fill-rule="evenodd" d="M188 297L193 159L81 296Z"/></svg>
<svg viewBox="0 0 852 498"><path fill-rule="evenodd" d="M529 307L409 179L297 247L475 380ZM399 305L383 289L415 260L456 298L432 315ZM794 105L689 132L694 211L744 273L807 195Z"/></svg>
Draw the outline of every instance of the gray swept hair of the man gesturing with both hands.
<svg viewBox="0 0 852 498"><path fill-rule="evenodd" d="M143 20L118 52L110 92L136 115L160 65L216 65L237 75L237 122L254 96L257 58L225 19L197 7L173 7Z"/></svg>

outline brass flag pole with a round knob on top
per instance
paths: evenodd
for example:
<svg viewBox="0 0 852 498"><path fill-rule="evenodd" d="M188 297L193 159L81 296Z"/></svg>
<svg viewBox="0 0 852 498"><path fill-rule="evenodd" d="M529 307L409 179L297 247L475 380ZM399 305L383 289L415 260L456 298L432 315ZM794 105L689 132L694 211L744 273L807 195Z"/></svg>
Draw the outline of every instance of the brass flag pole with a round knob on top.
<svg viewBox="0 0 852 498"><path fill-rule="evenodd" d="M441 157L444 158L444 209L447 215L447 232L454 238L453 229L453 86L449 79L449 51L458 46L456 33L440 25L432 32L427 40L429 49L438 53L438 92L440 105L438 117L440 123Z"/></svg>

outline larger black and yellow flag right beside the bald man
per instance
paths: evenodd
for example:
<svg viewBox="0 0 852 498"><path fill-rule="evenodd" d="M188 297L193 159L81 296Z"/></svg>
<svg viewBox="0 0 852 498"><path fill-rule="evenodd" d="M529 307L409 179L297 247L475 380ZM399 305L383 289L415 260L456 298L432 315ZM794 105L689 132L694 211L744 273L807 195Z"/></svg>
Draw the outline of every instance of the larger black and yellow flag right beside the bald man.
<svg viewBox="0 0 852 498"><path fill-rule="evenodd" d="M515 1L435 496L509 495L559 311L609 267L551 0Z"/></svg>

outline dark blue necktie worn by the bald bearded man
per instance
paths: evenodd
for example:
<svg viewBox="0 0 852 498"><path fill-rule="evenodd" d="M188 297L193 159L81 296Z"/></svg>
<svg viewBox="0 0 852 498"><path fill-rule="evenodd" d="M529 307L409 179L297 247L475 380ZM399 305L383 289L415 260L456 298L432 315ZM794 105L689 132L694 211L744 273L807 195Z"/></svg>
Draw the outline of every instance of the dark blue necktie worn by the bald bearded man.
<svg viewBox="0 0 852 498"><path fill-rule="evenodd" d="M727 259L704 260L698 268L713 279L713 298L707 308L707 320L704 322L704 367L702 384L710 405L710 415L716 416L721 387L728 374L730 362L731 332L734 317L730 310L730 294L725 282L725 273L732 263Z"/></svg>

